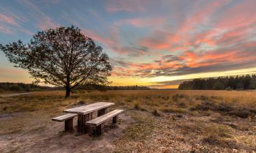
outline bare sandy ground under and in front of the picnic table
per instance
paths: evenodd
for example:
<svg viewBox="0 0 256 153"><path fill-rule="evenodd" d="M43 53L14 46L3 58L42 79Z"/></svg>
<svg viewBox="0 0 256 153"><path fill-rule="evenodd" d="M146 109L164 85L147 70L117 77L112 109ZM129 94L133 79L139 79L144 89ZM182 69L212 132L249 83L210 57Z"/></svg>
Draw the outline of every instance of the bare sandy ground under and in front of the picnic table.
<svg viewBox="0 0 256 153"><path fill-rule="evenodd" d="M113 152L113 141L122 135L132 119L121 114L119 121L120 124L111 128L106 124L105 132L100 137L76 132L64 133L63 122L53 122L52 126L32 131L1 135L0 152Z"/></svg>

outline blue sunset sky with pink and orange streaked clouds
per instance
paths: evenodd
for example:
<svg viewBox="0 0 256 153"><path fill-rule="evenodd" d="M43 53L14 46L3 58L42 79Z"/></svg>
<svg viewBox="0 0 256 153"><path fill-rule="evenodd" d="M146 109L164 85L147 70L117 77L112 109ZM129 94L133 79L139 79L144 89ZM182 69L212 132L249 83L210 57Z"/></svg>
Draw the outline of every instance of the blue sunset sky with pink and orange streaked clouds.
<svg viewBox="0 0 256 153"><path fill-rule="evenodd" d="M255 0L1 0L0 44L74 25L109 55L112 85L177 88L256 72ZM0 82L31 83L0 52Z"/></svg>

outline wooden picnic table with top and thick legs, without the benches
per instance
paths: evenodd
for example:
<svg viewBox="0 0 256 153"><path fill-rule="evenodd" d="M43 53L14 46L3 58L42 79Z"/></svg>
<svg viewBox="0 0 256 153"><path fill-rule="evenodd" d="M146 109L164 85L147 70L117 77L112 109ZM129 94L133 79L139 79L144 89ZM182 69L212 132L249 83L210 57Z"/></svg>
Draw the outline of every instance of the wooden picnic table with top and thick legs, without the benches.
<svg viewBox="0 0 256 153"><path fill-rule="evenodd" d="M78 114L77 131L81 133L87 133L89 126L86 125L85 122L93 119L93 112L98 111L98 116L102 116L103 114L106 114L106 108L112 105L115 105L115 103L98 102L89 105L83 105L81 107L65 109L63 112Z"/></svg>

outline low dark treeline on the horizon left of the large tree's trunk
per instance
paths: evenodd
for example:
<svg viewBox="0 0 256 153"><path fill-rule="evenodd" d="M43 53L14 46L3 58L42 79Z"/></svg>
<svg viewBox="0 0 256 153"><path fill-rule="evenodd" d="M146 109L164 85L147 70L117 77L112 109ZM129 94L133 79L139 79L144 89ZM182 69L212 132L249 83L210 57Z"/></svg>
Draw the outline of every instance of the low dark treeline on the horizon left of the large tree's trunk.
<svg viewBox="0 0 256 153"><path fill-rule="evenodd" d="M55 90L57 87L38 86L36 84L0 82L0 91L38 91L38 90Z"/></svg>

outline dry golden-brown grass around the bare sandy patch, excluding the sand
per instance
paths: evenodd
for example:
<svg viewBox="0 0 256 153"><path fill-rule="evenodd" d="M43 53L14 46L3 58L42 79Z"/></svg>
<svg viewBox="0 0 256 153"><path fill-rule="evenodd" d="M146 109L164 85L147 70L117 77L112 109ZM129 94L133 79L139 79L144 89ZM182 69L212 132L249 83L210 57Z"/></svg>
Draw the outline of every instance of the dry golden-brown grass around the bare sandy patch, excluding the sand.
<svg viewBox="0 0 256 153"><path fill-rule="evenodd" d="M134 119L115 141L114 152L252 152L256 150L255 93L109 90L75 92L64 99L63 91L34 92L0 99L0 115L16 116L0 118L0 135L51 126L49 118L79 101L109 101Z"/></svg>

